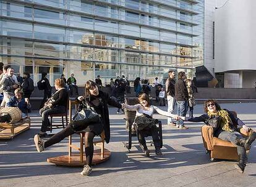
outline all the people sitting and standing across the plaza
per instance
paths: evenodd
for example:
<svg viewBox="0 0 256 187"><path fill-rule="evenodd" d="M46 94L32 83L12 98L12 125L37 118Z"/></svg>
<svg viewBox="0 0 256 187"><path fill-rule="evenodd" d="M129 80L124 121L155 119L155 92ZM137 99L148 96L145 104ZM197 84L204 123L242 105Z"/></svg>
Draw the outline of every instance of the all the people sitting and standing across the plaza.
<svg viewBox="0 0 256 187"><path fill-rule="evenodd" d="M239 132L241 127L245 132L251 129L247 127L241 119L234 116L228 109L221 109L221 106L215 100L207 100L204 104L205 114L194 117L193 110L195 106L194 92L197 92L191 79L187 79L186 73L180 71L170 70L168 72L168 79L165 83L165 89L160 84L158 78L155 78L153 86L156 88L156 98L160 101L160 105L165 105L165 97L167 97L168 110L164 111L156 105L152 105L150 101L151 86L147 79L143 80L140 84L140 78L134 81L134 94L139 99L137 105L127 105L124 101L125 93L130 93L130 82L128 78L122 76L117 77L115 80L111 79L109 87L111 87L111 94L107 94L101 90L102 81L101 77L97 76L94 81L87 81L85 83L85 93L79 95L77 81L74 74L71 74L67 79L62 74L61 78L56 79L54 87L56 92L52 94L51 85L47 78L47 73L41 74L40 81L37 82L38 89L44 90L44 98L40 106L40 115L42 117L42 124L40 132L35 137L35 146L38 152L45 151L51 145L59 143L64 138L72 135L73 133L85 132L85 154L86 165L81 172L82 175L90 175L92 172L93 160L93 138L96 135L105 133L105 141L109 143L110 140L110 124L108 105L117 108L117 113L123 113L124 109L129 111L136 111L133 128L137 133L137 138L140 147L143 149L145 156L150 156L150 150L147 148L145 136L150 134L155 146L155 154L161 156L160 137L156 128L156 119L153 118L154 113L168 117L168 124L173 125L179 129L188 129L184 125L184 121L190 122L204 122L209 124L209 119L218 119L218 124L215 124L214 137L221 138L222 140L230 141L237 147L237 154L239 155L239 162L236 168L244 172L247 164L246 151L250 149L252 143L256 138L256 133L250 133L249 137L245 138ZM1 106L5 107L18 107L22 111L22 116L27 115L27 111L31 108L30 96L34 90L33 79L30 78L29 73L23 73L21 78L18 73L14 75L14 69L9 65L0 64L0 85L1 85ZM69 92L75 90L77 97L75 100L79 103L77 112L90 106L92 112L96 114L93 119L73 119L67 127L60 132L50 137L48 140L43 140L46 137L49 128L50 114L64 113L69 100ZM187 111L189 116L186 117ZM11 121L10 115L0 116L0 122ZM216 121L215 121L216 123Z"/></svg>

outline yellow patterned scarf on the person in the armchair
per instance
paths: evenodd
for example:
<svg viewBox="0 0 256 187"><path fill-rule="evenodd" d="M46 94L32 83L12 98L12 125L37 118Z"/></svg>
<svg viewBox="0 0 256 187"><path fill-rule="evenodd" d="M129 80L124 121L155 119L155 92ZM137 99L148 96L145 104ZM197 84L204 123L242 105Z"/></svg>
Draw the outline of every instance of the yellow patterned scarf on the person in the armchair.
<svg viewBox="0 0 256 187"><path fill-rule="evenodd" d="M231 121L231 118L229 117L229 114L226 110L221 109L219 111L217 111L217 113L211 113L210 111L208 111L208 116L213 117L213 116L220 116L221 117L221 121L220 121L220 127L222 130L226 131L226 132L234 132L233 129L230 128L229 124L233 124Z"/></svg>

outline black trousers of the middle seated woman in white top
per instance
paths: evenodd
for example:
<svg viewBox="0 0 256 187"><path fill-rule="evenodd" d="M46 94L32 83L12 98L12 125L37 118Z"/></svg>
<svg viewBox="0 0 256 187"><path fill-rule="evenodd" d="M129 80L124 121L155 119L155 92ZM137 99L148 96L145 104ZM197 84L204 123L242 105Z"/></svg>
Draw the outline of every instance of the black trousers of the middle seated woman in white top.
<svg viewBox="0 0 256 187"><path fill-rule="evenodd" d="M160 148L160 138L158 136L158 129L155 125L153 125L151 128L145 128L142 130L137 130L137 137L139 140L139 143L143 146L144 151L147 150L146 140L145 137L152 136L153 143L155 145L155 148Z"/></svg>

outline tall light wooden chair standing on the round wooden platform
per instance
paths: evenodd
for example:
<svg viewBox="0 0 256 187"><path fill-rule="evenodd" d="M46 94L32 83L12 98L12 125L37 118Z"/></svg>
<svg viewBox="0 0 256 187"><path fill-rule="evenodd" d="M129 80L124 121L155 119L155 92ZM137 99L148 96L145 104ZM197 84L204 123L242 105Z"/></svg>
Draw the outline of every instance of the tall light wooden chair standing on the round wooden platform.
<svg viewBox="0 0 256 187"><path fill-rule="evenodd" d="M74 100L69 100L69 121L71 122L72 119L72 106L75 105L75 110L78 108L78 103ZM72 135L69 136L69 157L72 156L72 148L79 151L80 154L80 162L83 162L83 145L85 145L85 132L80 131L78 132L80 134L80 146L75 146L72 144ZM100 146L101 148L101 159L104 159L105 157L105 132L101 133L101 139L93 141L93 144L95 146Z"/></svg>

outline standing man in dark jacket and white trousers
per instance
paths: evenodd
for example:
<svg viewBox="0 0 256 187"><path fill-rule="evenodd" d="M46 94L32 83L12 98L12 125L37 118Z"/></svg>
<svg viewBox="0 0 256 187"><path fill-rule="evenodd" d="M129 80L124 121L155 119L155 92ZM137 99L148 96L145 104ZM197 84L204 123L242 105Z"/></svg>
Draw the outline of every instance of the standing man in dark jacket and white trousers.
<svg viewBox="0 0 256 187"><path fill-rule="evenodd" d="M176 114L177 113L177 103L175 100L175 77L176 72L173 70L168 71L168 79L165 82L166 95L167 95L167 103L168 103L168 113ZM168 125L176 126L176 121L173 118L168 117L167 119Z"/></svg>

